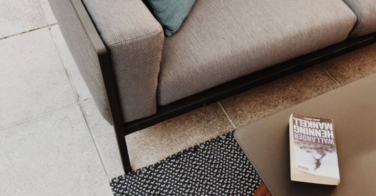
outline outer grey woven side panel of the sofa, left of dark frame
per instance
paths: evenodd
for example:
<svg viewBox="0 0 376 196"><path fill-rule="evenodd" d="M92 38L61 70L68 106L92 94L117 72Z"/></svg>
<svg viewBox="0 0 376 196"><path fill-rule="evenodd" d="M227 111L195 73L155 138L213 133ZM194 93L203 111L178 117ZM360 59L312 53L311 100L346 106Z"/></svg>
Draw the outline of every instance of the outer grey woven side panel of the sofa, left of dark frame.
<svg viewBox="0 0 376 196"><path fill-rule="evenodd" d="M97 108L111 124L112 119L98 56L84 26L73 9L71 0L49 0L49 4Z"/></svg>

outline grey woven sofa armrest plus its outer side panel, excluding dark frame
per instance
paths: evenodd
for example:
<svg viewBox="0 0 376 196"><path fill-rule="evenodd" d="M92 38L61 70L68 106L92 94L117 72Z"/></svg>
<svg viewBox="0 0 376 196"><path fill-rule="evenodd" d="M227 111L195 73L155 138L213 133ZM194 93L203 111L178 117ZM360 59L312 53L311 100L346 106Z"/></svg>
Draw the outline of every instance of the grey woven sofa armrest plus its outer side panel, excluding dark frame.
<svg viewBox="0 0 376 196"><path fill-rule="evenodd" d="M82 22L71 11L71 2L50 0L73 58L98 109L106 120L111 121L109 106L105 104L107 97L103 80L98 77L98 74L101 75L100 69L94 60L88 61L93 56L92 48L83 45L88 45L90 41L80 32ZM82 0L82 3L107 48L123 123L154 114L164 41L161 25L141 0Z"/></svg>

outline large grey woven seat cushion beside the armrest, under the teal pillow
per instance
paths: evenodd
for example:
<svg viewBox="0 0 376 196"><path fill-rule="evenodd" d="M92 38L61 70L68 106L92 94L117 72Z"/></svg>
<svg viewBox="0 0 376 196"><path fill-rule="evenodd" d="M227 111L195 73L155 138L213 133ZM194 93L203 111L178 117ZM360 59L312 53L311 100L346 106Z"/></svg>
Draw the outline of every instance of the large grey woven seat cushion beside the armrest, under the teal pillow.
<svg viewBox="0 0 376 196"><path fill-rule="evenodd" d="M355 21L341 0L197 0L165 38L159 104L344 41Z"/></svg>

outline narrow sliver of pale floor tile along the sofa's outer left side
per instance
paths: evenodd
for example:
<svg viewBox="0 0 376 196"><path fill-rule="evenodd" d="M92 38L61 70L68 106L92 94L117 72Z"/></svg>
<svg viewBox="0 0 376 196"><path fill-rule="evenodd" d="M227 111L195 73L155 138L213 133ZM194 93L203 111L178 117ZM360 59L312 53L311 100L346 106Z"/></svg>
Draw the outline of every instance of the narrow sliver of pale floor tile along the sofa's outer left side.
<svg viewBox="0 0 376 196"><path fill-rule="evenodd" d="M86 86L77 66L73 60L68 45L65 43L63 35L60 32L58 25L53 25L50 29L52 38L56 44L57 51L60 54L61 61L67 71L68 77L74 91L77 93L79 101L84 101L92 98L88 87Z"/></svg>

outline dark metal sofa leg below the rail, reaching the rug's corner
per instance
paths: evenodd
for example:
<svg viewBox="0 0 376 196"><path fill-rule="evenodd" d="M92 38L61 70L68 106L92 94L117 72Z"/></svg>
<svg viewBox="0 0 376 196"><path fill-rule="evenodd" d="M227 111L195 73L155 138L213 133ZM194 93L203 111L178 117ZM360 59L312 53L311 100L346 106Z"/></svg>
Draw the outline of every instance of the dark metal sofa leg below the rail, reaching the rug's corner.
<svg viewBox="0 0 376 196"><path fill-rule="evenodd" d="M123 165L124 173L127 174L131 172L131 163L129 161L129 154L128 154L128 148L127 143L125 141L125 135L122 128L122 125L116 125L119 123L114 123L114 130L115 134L118 140L118 149L120 153L121 163Z"/></svg>

